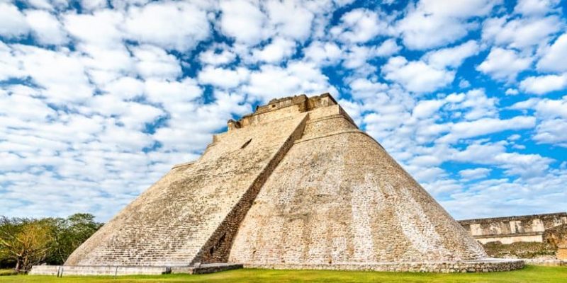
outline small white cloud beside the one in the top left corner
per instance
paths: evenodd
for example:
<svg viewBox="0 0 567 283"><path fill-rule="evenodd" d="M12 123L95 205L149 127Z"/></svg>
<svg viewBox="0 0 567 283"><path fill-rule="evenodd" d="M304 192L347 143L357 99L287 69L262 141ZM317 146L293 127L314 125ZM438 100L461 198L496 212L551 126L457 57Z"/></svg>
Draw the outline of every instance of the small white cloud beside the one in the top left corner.
<svg viewBox="0 0 567 283"><path fill-rule="evenodd" d="M33 30L33 36L43 45L61 45L67 43L67 33L61 23L46 11L26 11L26 21Z"/></svg>

